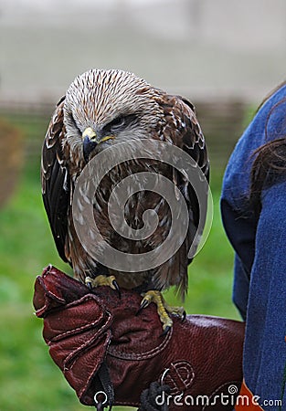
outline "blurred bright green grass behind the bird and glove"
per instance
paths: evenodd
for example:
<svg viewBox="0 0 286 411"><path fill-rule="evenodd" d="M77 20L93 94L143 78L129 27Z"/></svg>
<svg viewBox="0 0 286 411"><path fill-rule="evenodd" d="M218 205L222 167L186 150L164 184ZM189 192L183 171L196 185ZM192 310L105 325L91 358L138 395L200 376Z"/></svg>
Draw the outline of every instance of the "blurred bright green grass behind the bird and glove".
<svg viewBox="0 0 286 411"><path fill-rule="evenodd" d="M49 358L42 321L33 315L33 285L42 268L51 262L68 269L53 244L37 170L38 163L26 163L15 195L0 210L0 409L79 411L87 408ZM213 181L213 226L190 267L185 309L238 318L231 303L233 256L219 216L220 177ZM172 291L167 299L175 303Z"/></svg>

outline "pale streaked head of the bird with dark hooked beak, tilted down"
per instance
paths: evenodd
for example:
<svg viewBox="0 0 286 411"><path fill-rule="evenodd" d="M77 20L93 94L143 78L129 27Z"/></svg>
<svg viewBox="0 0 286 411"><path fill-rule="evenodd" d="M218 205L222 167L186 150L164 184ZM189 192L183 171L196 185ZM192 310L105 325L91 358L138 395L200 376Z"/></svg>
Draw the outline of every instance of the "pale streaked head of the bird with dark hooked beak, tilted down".
<svg viewBox="0 0 286 411"><path fill-rule="evenodd" d="M122 70L91 69L78 76L64 103L64 144L85 163L117 142L143 139L164 123L159 90Z"/></svg>

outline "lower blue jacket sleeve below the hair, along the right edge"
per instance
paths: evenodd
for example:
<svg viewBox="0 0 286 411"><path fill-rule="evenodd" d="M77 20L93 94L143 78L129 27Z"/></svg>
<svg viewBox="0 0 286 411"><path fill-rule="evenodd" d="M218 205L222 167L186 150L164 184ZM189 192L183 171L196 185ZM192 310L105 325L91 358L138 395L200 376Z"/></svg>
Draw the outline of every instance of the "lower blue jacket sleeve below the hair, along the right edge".
<svg viewBox="0 0 286 411"><path fill-rule="evenodd" d="M264 410L286 404L286 174L262 192L251 269L244 345L244 378ZM268 404L263 404L266 401Z"/></svg>

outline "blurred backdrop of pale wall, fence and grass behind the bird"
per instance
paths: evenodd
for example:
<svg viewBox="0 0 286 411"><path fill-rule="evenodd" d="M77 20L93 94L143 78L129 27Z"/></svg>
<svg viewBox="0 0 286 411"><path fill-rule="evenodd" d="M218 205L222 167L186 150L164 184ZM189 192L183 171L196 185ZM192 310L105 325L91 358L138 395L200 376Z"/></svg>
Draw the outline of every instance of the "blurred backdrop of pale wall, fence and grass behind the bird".
<svg viewBox="0 0 286 411"><path fill-rule="evenodd" d="M189 269L188 313L238 319L219 216L229 153L286 67L284 0L2 0L0 4L0 409L83 410L33 315L35 278L57 255L40 148L54 106L89 68L133 71L196 105L212 165L214 221ZM177 302L172 292L168 301ZM116 407L116 410L122 410Z"/></svg>

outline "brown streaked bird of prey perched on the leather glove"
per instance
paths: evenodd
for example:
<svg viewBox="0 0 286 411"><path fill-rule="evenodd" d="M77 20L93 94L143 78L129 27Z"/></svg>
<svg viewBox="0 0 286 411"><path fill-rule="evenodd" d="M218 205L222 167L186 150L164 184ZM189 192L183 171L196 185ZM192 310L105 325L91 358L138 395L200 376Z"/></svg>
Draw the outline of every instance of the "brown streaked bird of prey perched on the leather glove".
<svg viewBox="0 0 286 411"><path fill-rule="evenodd" d="M154 209L158 229L141 241L121 237L108 218L108 200L114 185L129 174L152 170L172 181L185 197L189 225L182 246L155 269L116 272L90 257L82 247L72 220L74 187L83 168L98 153L118 142L154 139L188 153L208 180L209 162L203 133L192 103L156 89L144 79L119 69L90 69L78 76L59 100L42 149L41 182L44 205L59 256L69 262L75 278L91 287L109 284L143 294L142 307L157 304L164 331L172 327L172 311L161 291L175 286L182 297L187 289L188 249L194 240L200 209L192 184L170 165L151 160L122 163L102 179L93 200L94 220L102 237L124 252L141 254L158 247L172 224L169 206L152 191L136 193L125 205L125 217L134 228L143 225L143 211ZM119 147L119 146L118 146ZM174 309L184 316L181 308Z"/></svg>

